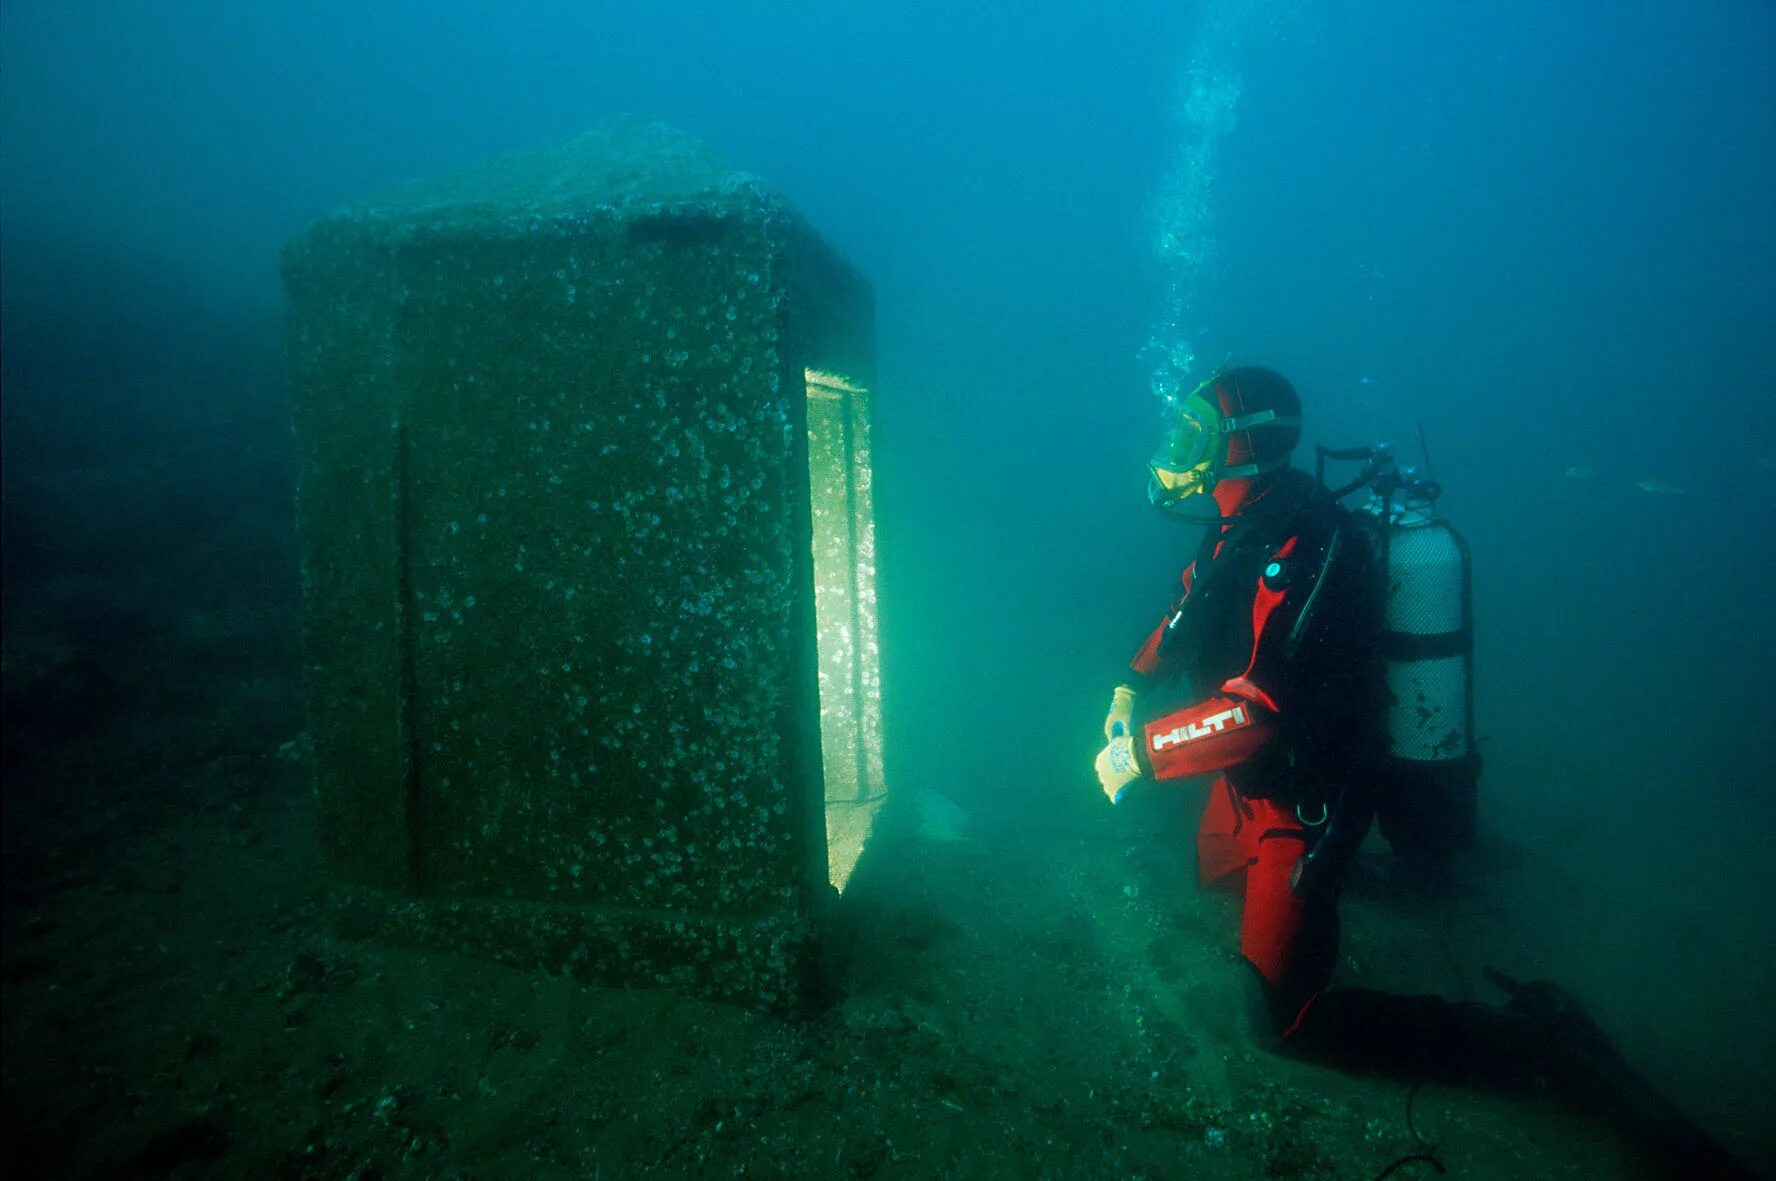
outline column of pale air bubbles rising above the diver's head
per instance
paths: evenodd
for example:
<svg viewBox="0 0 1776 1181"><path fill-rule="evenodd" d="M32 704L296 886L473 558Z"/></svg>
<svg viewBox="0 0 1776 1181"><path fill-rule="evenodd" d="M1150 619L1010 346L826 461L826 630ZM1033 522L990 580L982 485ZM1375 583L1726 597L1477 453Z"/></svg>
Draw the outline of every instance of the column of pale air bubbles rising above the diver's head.
<svg viewBox="0 0 1776 1181"><path fill-rule="evenodd" d="M1177 78L1176 151L1160 179L1153 211L1154 250L1167 273L1165 307L1147 341L1153 392L1170 408L1195 387L1197 300L1215 258L1215 172L1222 140L1238 119L1240 50L1268 5L1209 0L1190 59Z"/></svg>

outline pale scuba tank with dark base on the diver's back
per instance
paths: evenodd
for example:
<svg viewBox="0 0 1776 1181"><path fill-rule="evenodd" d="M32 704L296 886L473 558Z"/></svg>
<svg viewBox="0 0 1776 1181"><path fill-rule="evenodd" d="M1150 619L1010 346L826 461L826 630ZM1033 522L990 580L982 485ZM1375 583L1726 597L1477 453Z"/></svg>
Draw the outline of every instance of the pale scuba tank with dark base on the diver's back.
<svg viewBox="0 0 1776 1181"><path fill-rule="evenodd" d="M1467 542L1437 513L1437 481L1399 467L1387 448L1320 448L1321 472L1327 458L1366 460L1362 476L1332 495L1369 490L1357 511L1373 533L1384 588L1376 604L1385 686L1373 773L1376 817L1399 858L1435 868L1472 847L1478 822Z"/></svg>

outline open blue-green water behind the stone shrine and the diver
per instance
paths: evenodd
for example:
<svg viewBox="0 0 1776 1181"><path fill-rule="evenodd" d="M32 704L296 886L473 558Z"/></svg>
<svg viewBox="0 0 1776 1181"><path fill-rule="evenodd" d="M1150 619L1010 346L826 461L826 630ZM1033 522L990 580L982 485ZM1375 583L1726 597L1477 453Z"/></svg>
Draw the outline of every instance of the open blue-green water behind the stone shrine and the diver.
<svg viewBox="0 0 1776 1181"><path fill-rule="evenodd" d="M1186 270L1154 242L1202 46L1238 92ZM1147 345L1188 337L1288 373L1311 440L1423 424L1474 552L1488 824L1769 959L1776 7L18 0L9 480L151 446L117 423L270 430L282 242L618 112L874 282L895 783L1096 805L1190 551L1142 469Z"/></svg>

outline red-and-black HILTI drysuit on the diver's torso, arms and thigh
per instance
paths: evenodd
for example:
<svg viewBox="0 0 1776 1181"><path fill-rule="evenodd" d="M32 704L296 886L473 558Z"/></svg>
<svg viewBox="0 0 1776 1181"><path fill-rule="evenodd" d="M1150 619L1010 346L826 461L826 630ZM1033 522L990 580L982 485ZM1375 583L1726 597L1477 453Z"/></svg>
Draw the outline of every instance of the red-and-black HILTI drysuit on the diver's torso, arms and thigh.
<svg viewBox="0 0 1776 1181"><path fill-rule="evenodd" d="M1336 868L1368 829L1353 780L1375 749L1376 689L1364 535L1304 474L1280 485L1266 501L1298 508L1211 527L1130 668L1142 701L1190 682L1185 703L1137 717L1137 760L1154 780L1215 774L1197 876L1243 892L1240 950L1288 1032L1337 947L1337 876L1304 890L1298 874L1309 852Z"/></svg>

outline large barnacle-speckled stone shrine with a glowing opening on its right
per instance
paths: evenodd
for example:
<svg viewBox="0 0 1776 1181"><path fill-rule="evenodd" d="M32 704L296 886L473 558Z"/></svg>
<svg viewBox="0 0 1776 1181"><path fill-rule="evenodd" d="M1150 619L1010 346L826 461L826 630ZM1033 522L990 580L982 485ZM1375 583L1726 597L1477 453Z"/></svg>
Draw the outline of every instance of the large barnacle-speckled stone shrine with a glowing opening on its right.
<svg viewBox="0 0 1776 1181"><path fill-rule="evenodd" d="M282 270L343 913L794 1000L883 797L867 286L632 121Z"/></svg>

